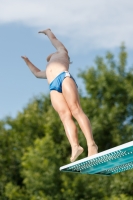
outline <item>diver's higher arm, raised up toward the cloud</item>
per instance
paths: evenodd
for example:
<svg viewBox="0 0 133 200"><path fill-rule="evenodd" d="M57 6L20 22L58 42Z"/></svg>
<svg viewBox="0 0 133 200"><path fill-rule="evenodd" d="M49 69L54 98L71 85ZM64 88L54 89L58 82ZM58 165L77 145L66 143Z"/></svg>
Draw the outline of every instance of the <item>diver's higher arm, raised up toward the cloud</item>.
<svg viewBox="0 0 133 200"><path fill-rule="evenodd" d="M39 31L39 33L44 33L45 35L47 35L48 38L50 39L52 45L57 49L57 51L59 51L59 52L65 51L66 53L68 53L65 46L55 37L55 35L52 33L52 31L50 29L46 29L44 31Z"/></svg>

